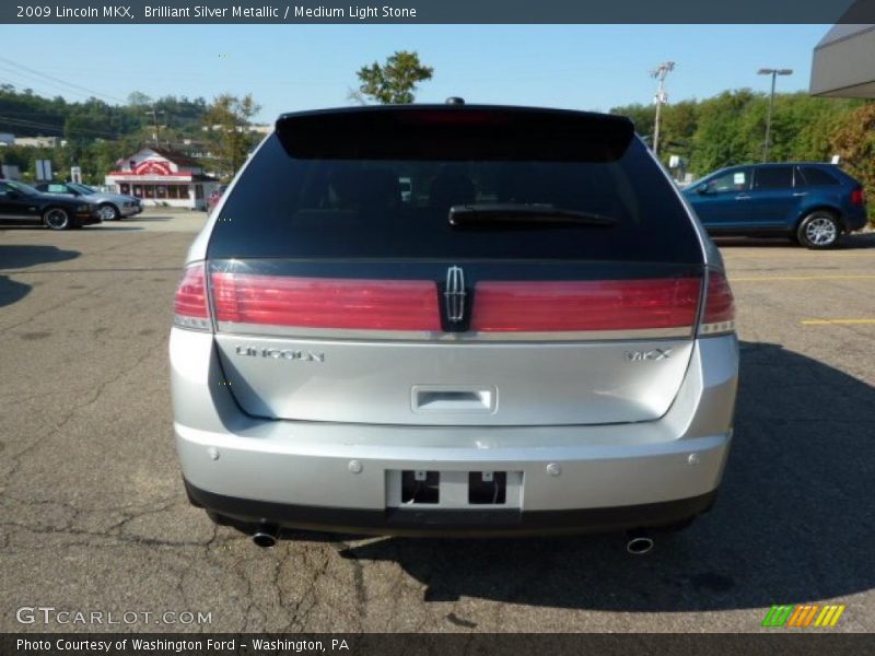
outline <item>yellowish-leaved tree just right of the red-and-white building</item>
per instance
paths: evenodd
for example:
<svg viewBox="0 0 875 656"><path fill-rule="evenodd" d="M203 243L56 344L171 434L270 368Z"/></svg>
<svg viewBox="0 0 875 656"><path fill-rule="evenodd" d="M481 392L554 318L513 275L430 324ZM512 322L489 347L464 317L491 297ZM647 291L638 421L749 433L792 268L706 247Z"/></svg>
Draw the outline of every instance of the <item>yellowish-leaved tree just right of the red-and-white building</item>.
<svg viewBox="0 0 875 656"><path fill-rule="evenodd" d="M203 116L208 131L218 132L215 154L226 177L236 173L255 145L255 137L248 129L249 119L260 108L252 94L238 98L225 93L213 99Z"/></svg>

